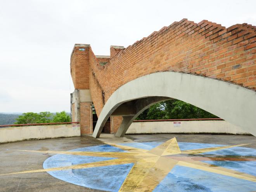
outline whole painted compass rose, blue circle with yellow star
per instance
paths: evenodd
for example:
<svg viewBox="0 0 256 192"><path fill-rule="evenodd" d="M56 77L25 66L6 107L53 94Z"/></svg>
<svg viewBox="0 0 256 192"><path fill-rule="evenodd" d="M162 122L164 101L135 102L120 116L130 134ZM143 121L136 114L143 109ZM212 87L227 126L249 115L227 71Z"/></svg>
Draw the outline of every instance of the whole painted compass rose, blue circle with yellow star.
<svg viewBox="0 0 256 192"><path fill-rule="evenodd" d="M76 185L120 192L249 192L256 190L256 150L242 145L248 144L178 143L174 137L164 143L107 143L71 151L22 150L57 155L44 162L44 169L2 175L47 171Z"/></svg>

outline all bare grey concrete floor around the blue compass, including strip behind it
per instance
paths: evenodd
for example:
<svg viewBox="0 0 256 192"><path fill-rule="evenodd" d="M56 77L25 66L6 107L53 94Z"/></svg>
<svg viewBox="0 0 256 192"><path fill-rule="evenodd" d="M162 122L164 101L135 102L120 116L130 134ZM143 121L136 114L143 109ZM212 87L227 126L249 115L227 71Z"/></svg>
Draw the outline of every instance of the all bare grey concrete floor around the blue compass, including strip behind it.
<svg viewBox="0 0 256 192"><path fill-rule="evenodd" d="M256 137L249 135L126 135L116 138L115 142L165 142L176 137L178 142L193 142L207 144L237 145L248 144L245 147L256 149ZM101 140L111 142L113 137L102 134ZM56 150L67 151L81 147L104 144L101 140L84 136L73 138L57 138L45 140L29 140L22 142L0 144L0 174L19 171L42 169L43 162L54 154L22 152L17 150ZM47 172L24 173L0 176L1 192L97 192L102 190L89 189L59 180ZM255 189L256 190L256 189Z"/></svg>

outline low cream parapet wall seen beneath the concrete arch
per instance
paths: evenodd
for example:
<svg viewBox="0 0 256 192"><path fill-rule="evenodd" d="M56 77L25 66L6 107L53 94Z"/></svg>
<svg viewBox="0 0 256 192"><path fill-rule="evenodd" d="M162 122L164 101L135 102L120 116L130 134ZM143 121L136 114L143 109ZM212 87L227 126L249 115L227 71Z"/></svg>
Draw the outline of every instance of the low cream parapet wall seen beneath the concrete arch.
<svg viewBox="0 0 256 192"><path fill-rule="evenodd" d="M133 122L126 134L139 133L220 133L249 134L227 121L150 121Z"/></svg>

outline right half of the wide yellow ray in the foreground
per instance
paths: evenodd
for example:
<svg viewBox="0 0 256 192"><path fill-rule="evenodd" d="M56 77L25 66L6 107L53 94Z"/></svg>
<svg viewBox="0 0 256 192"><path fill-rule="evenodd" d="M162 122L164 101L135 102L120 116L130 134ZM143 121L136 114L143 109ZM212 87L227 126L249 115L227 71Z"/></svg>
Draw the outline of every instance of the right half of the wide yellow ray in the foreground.
<svg viewBox="0 0 256 192"><path fill-rule="evenodd" d="M153 191L177 163L176 160L160 157L134 191Z"/></svg>

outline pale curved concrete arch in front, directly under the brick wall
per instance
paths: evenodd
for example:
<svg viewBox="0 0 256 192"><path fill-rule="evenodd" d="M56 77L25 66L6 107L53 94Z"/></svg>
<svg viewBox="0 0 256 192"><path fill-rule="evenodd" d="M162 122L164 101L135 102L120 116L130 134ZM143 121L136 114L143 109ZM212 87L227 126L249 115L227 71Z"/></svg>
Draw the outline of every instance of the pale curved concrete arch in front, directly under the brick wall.
<svg viewBox="0 0 256 192"><path fill-rule="evenodd" d="M256 92L231 83L173 71L152 73L119 87L103 107L93 137L121 104L145 97L170 97L200 107L256 136Z"/></svg>

